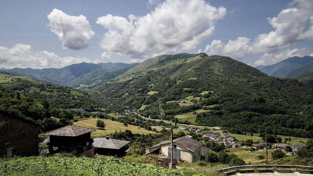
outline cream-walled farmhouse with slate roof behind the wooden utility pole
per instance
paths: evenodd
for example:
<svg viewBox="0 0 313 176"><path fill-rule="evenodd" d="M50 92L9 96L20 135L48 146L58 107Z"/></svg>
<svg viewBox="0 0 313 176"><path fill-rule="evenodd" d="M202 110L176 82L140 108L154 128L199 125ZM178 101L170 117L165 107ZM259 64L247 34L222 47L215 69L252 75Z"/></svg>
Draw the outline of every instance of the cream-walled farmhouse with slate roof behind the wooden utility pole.
<svg viewBox="0 0 313 176"><path fill-rule="evenodd" d="M190 137L184 136L173 140L173 158L194 163L201 159L202 145ZM171 157L171 141L162 141L149 148L149 153L163 154L166 157ZM206 154L204 154L205 156Z"/></svg>

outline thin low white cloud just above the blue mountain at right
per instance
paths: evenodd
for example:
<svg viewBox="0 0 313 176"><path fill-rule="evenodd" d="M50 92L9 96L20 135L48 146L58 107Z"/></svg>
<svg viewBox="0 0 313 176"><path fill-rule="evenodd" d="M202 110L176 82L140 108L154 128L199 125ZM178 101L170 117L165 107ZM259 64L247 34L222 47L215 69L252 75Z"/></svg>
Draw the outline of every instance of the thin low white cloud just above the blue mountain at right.
<svg viewBox="0 0 313 176"><path fill-rule="evenodd" d="M254 65L273 64L294 56L303 57L308 53L310 53L308 48L287 49L278 53L264 53L259 60L255 61Z"/></svg>

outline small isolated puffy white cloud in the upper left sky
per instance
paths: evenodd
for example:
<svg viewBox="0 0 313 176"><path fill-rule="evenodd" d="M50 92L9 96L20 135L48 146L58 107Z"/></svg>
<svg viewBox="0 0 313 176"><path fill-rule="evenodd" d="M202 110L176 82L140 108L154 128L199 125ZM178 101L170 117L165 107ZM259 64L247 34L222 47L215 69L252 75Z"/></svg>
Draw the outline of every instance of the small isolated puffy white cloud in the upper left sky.
<svg viewBox="0 0 313 176"><path fill-rule="evenodd" d="M59 37L64 49L86 49L88 40L95 35L89 21L83 15L70 16L61 10L53 9L48 19L51 32Z"/></svg>

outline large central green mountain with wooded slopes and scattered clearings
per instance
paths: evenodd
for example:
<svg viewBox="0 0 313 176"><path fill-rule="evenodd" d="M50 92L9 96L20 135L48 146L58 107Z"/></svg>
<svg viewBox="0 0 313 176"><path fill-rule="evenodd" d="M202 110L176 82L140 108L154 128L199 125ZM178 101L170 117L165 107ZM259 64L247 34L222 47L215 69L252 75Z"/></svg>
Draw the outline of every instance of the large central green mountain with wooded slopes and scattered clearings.
<svg viewBox="0 0 313 176"><path fill-rule="evenodd" d="M111 101L119 107L118 111L125 106L139 109L148 105L141 115L186 124L191 122L183 122L175 115L195 111L196 124L251 131L258 127L274 129L276 124L263 119L276 122L277 117L281 119L277 121L280 134L298 128L309 130L310 125L306 125L313 124L307 113L313 92L297 80L270 77L229 57L204 53L162 55L161 59L149 59L142 64L88 92ZM149 87L151 84L154 86ZM192 103L183 106L187 104L173 102L179 99ZM294 119L304 123L294 123Z"/></svg>

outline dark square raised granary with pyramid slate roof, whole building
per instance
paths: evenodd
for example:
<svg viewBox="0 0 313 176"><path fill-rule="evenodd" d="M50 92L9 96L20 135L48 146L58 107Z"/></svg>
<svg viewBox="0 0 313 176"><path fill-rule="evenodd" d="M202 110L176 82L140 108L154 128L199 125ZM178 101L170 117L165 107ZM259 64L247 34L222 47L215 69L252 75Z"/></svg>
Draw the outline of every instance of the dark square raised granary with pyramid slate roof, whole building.
<svg viewBox="0 0 313 176"><path fill-rule="evenodd" d="M68 152L76 156L94 156L93 139L90 138L92 131L95 129L68 125L45 133L44 135L49 135L49 142L46 141L49 154ZM57 149L54 150L53 147Z"/></svg>

